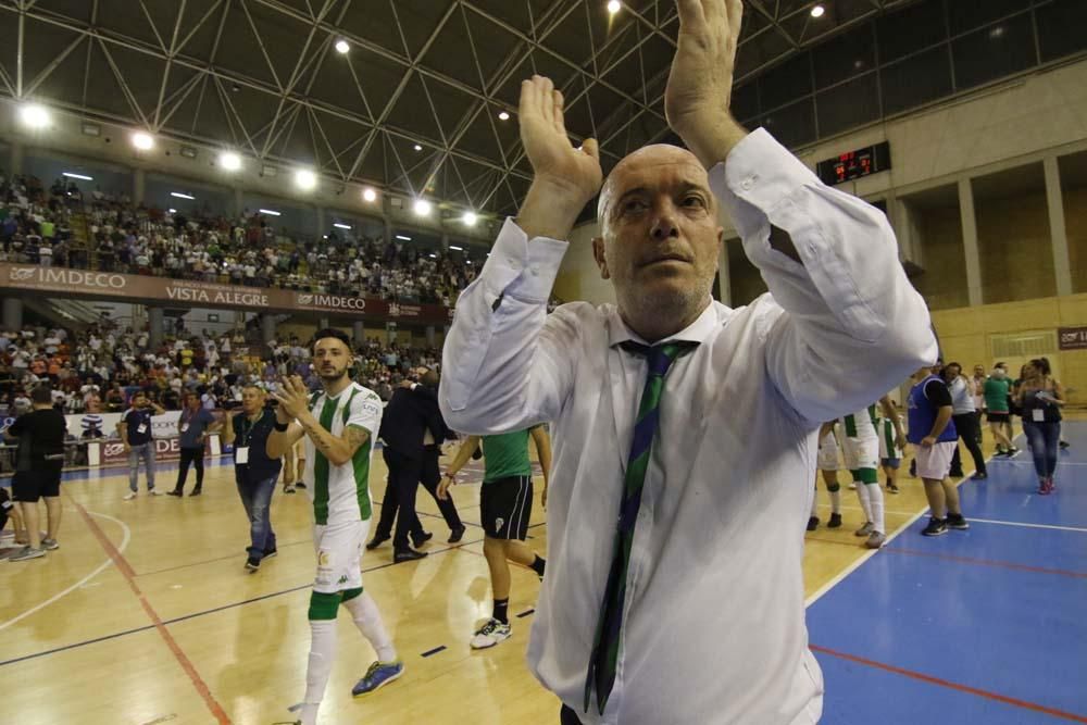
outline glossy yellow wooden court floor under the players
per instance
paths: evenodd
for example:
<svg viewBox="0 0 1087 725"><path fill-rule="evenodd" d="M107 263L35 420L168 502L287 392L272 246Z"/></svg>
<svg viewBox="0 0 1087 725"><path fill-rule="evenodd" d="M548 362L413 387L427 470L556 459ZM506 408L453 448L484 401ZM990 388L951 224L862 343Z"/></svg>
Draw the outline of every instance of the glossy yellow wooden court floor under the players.
<svg viewBox="0 0 1087 725"><path fill-rule="evenodd" d="M991 448L990 448L991 450ZM969 457L967 457L969 460ZM374 457L375 501L385 467ZM967 467L969 470L969 467ZM301 699L309 647L305 611L313 578L308 500L299 492L273 502L279 555L257 574L243 571L248 527L228 465L208 471L204 495L123 501L124 472L66 483L61 549L45 559L0 562L0 720L18 725L149 725L151 723L289 722ZM863 517L845 488L846 525L809 534L804 558L811 600L866 554L852 535ZM190 486L191 486L190 473ZM166 490L175 474L159 474ZM888 532L925 508L921 482L900 478L887 496ZM490 614L479 485L454 497L468 533L457 547L430 497L420 514L434 539L420 562L391 563L388 545L366 552L363 583L380 607L407 663L380 692L352 700L351 686L373 651L350 618L339 618L340 649L322 708L322 723L557 722L558 701L527 672L524 651L537 577L514 566L513 637L473 652L468 639ZM826 493L820 490L821 501ZM825 522L828 512L824 508ZM528 541L547 547L537 496ZM523 616L522 616L523 615ZM845 613L844 613L845 615ZM433 652L438 648L440 651Z"/></svg>

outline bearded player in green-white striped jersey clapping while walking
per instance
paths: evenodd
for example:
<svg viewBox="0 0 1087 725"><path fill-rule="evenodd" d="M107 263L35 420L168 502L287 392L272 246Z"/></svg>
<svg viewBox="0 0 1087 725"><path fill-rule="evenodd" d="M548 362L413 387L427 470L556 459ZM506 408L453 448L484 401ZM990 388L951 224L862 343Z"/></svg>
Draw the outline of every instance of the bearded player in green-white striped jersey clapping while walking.
<svg viewBox="0 0 1087 725"><path fill-rule="evenodd" d="M313 342L314 370L323 389L310 393L298 376L285 378L273 393L278 401L267 454L282 457L305 440L305 492L313 502L313 543L317 573L310 595L310 658L305 697L291 708L300 725L313 725L336 659L336 615L342 604L377 653L351 690L366 695L403 674L403 663L382 622L377 603L362 589L361 560L370 529L370 457L382 425L382 401L352 383L348 337L320 330Z"/></svg>

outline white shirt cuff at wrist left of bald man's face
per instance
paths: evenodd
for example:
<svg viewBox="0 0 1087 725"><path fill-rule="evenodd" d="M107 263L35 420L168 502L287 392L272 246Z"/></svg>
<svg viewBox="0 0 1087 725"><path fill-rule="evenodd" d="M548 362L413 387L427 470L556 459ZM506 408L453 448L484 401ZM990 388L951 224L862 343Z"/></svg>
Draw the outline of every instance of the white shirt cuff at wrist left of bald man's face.
<svg viewBox="0 0 1087 725"><path fill-rule="evenodd" d="M484 264L480 278L496 296L511 293L529 302L546 302L569 242L528 235L512 217L505 220Z"/></svg>

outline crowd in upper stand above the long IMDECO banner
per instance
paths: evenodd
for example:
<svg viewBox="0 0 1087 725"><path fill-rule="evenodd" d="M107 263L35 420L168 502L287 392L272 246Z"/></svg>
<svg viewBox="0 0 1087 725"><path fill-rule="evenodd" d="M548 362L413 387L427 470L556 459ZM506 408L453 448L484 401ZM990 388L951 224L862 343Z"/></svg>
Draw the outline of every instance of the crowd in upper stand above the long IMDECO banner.
<svg viewBox="0 0 1087 725"><path fill-rule="evenodd" d="M186 216L135 205L74 182L48 189L0 173L0 261L93 267L252 287L452 305L476 270L461 252L421 251L396 239L334 229L321 239L277 232L261 214ZM85 214L86 243L72 230Z"/></svg>

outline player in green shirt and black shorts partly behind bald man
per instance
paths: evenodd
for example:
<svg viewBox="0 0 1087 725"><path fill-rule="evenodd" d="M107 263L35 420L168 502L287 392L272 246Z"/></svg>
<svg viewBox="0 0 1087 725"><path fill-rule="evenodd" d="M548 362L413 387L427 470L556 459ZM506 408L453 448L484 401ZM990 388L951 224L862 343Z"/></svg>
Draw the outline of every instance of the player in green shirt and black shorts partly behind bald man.
<svg viewBox="0 0 1087 725"><path fill-rule="evenodd" d="M472 638L472 649L487 649L510 638L510 562L527 566L544 578L545 560L525 545L533 512L533 464L528 439L544 468L544 505L547 505L548 475L551 471L551 441L544 426L497 436L468 436L438 485L438 498L449 498L457 474L483 445L484 476L479 489L483 521L483 553L490 570L495 607L490 620Z"/></svg>

